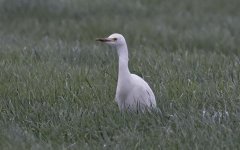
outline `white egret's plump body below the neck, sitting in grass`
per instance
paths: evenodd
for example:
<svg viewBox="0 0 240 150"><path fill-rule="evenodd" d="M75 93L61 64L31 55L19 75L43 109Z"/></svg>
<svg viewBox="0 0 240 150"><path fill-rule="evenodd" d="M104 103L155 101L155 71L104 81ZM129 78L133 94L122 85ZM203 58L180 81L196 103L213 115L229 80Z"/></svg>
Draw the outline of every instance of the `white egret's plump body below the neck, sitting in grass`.
<svg viewBox="0 0 240 150"><path fill-rule="evenodd" d="M151 88L147 82L135 74L131 74L128 82L118 82L115 100L121 111L128 109L144 111L146 108L156 107Z"/></svg>

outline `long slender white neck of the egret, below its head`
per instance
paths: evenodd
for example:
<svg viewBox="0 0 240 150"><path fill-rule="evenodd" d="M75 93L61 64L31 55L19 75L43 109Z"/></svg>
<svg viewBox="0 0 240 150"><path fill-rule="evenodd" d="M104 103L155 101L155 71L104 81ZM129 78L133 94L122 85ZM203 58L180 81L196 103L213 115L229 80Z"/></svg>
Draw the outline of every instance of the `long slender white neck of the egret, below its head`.
<svg viewBox="0 0 240 150"><path fill-rule="evenodd" d="M118 64L118 80L127 80L130 77L128 69L128 48L127 45L121 45L117 48L119 64Z"/></svg>

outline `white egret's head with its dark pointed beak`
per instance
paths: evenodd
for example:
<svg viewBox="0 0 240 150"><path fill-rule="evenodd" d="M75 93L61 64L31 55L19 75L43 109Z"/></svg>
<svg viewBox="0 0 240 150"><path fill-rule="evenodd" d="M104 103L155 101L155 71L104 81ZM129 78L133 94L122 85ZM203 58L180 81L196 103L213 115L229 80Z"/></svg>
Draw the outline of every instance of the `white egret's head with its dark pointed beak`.
<svg viewBox="0 0 240 150"><path fill-rule="evenodd" d="M100 41L114 47L119 47L126 44L125 38L118 33L114 33L107 38L97 38L96 41Z"/></svg>

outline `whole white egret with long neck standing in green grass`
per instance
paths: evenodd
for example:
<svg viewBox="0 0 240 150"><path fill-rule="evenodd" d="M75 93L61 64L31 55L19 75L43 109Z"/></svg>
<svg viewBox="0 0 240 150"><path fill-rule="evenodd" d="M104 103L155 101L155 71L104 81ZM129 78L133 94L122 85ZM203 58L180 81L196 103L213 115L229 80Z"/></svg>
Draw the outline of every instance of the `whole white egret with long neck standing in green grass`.
<svg viewBox="0 0 240 150"><path fill-rule="evenodd" d="M119 64L115 101L120 111L145 111L156 108L155 96L147 82L129 71L125 38L121 34L114 33L107 38L96 40L117 49Z"/></svg>

